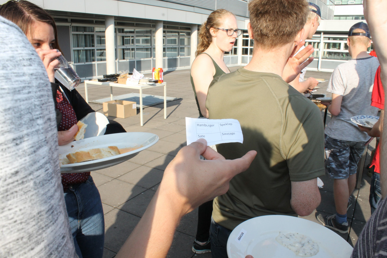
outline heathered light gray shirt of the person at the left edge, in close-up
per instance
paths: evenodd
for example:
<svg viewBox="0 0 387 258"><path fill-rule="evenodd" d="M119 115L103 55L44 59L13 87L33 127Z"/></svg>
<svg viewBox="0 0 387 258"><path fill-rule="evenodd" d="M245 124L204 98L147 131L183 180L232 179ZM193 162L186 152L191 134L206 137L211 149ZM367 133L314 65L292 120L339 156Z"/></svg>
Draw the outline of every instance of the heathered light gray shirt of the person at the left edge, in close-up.
<svg viewBox="0 0 387 258"><path fill-rule="evenodd" d="M77 257L58 162L47 73L0 16L0 257Z"/></svg>

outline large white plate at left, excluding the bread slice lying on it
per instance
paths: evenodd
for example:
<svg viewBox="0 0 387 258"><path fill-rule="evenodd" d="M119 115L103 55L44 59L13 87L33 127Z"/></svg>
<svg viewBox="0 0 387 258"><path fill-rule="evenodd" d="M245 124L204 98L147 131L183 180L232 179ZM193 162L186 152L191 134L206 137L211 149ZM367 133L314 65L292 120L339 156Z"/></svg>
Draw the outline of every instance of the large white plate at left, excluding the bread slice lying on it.
<svg viewBox="0 0 387 258"><path fill-rule="evenodd" d="M108 135L101 135L98 137L91 137L79 141L70 142L69 144L59 146L59 161L62 162L67 154L77 152L80 150L89 150L96 148L105 148L108 146L117 146L122 148L135 148L120 155L108 157L104 159L96 159L94 161L85 161L74 164L60 165L60 172L62 173L80 173L87 171L94 171L111 167L137 155L141 150L145 150L158 142L159 137L153 133L136 132L136 133L113 133ZM72 147L73 146L73 147Z"/></svg>

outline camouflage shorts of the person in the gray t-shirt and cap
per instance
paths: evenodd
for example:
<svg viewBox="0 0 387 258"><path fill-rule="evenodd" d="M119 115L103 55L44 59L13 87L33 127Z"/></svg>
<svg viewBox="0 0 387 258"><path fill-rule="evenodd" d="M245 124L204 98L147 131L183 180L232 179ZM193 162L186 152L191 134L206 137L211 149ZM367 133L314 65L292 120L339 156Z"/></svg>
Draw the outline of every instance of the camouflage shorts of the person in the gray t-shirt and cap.
<svg viewBox="0 0 387 258"><path fill-rule="evenodd" d="M325 135L325 171L330 178L345 179L356 174L365 142L337 140Z"/></svg>

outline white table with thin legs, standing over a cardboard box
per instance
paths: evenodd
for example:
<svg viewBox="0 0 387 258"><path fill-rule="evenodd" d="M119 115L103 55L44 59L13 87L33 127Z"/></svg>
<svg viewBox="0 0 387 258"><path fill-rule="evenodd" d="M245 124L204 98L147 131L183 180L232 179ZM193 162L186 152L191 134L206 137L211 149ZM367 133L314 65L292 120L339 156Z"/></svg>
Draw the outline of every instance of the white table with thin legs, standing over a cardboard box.
<svg viewBox="0 0 387 258"><path fill-rule="evenodd" d="M138 89L140 91L140 122L141 126L143 125L143 118L142 118L142 90L143 89L149 89L159 86L164 86L164 119L167 118L167 84L166 82L163 83L156 83L154 85L148 85L148 84L120 84L116 82L98 82L96 80L85 80L85 94L86 94L86 102L89 103L89 97L87 96L87 84L93 84L93 85L105 85L110 86L110 100L113 100L113 87L121 87L121 88L127 88L127 89Z"/></svg>

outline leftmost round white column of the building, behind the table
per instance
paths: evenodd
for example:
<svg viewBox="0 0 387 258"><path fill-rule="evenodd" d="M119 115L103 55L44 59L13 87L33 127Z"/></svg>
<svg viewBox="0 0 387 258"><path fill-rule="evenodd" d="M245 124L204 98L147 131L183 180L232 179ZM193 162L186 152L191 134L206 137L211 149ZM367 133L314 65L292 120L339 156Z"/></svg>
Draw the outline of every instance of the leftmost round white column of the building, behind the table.
<svg viewBox="0 0 387 258"><path fill-rule="evenodd" d="M114 45L114 16L105 16L106 73L116 73L116 50Z"/></svg>

